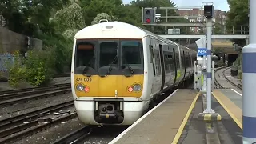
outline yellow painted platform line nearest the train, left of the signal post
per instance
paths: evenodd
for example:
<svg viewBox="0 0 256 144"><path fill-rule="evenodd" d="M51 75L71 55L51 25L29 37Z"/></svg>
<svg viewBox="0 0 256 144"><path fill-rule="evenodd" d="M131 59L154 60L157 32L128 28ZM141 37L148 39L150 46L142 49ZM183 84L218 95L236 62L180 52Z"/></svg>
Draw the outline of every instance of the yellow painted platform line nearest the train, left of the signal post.
<svg viewBox="0 0 256 144"><path fill-rule="evenodd" d="M189 110L187 110L186 115L185 115L185 118L183 119L181 126L179 126L179 128L178 128L178 131L177 131L177 133L176 133L176 135L175 135L175 137L174 137L174 140L173 140L172 144L177 144L178 139L181 137L182 131L184 130L184 127L185 127L185 125L186 125L186 122L187 122L187 120L189 119L192 110L194 109L195 102L197 102L199 94L200 94L200 93L198 93L198 94L195 96L193 102L192 102L191 105L190 105Z"/></svg>

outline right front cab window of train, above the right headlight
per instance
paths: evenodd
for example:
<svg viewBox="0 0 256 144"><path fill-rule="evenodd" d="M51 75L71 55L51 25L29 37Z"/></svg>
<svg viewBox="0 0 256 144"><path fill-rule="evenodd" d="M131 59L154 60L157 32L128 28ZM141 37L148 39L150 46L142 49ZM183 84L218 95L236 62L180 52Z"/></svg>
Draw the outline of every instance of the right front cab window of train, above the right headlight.
<svg viewBox="0 0 256 144"><path fill-rule="evenodd" d="M122 40L122 66L129 64L132 69L143 70L143 49L142 42Z"/></svg>

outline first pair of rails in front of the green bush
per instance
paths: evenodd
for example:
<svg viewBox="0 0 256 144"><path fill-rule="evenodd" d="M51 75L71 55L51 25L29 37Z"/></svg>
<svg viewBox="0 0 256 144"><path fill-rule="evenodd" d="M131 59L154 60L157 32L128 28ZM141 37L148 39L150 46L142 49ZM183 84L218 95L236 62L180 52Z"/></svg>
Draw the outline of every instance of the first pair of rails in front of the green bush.
<svg viewBox="0 0 256 144"><path fill-rule="evenodd" d="M26 102L31 99L54 96L57 94L65 94L71 91L70 84L62 84L58 86L49 86L36 89L26 90L9 90L9 93L0 94L0 106L10 106L18 102Z"/></svg>

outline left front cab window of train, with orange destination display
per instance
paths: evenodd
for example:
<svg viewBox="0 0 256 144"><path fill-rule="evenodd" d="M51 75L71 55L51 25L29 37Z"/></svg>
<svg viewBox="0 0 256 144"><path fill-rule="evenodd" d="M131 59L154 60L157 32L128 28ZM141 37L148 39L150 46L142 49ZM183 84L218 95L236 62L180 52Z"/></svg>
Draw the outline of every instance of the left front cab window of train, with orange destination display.
<svg viewBox="0 0 256 144"><path fill-rule="evenodd" d="M78 42L75 54L75 67L95 68L94 42Z"/></svg>

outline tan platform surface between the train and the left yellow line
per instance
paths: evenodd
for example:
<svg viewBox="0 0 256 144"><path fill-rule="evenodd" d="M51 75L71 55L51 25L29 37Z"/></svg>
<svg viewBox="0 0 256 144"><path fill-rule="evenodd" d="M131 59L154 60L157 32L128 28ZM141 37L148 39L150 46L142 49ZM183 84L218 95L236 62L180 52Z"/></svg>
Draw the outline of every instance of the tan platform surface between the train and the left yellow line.
<svg viewBox="0 0 256 144"><path fill-rule="evenodd" d="M179 89L124 134L116 144L170 144L173 142L197 90Z"/></svg>

